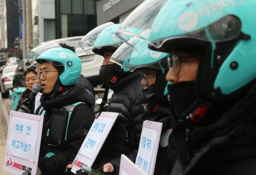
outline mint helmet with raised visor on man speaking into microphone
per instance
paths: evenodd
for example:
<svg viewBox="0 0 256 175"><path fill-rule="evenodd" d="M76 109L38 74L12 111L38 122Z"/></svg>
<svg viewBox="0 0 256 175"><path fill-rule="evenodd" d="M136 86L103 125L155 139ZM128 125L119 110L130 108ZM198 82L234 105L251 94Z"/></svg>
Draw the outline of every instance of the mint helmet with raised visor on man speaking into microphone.
<svg viewBox="0 0 256 175"><path fill-rule="evenodd" d="M27 53L31 63L48 61L56 66L62 66L59 75L60 82L64 86L75 85L82 71L82 61L69 49L62 48L54 42L40 45Z"/></svg>

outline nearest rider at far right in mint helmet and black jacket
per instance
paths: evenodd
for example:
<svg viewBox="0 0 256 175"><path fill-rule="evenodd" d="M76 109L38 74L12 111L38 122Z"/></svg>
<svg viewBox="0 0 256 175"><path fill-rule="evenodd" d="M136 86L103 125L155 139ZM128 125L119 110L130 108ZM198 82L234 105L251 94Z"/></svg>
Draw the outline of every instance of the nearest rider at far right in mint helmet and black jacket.
<svg viewBox="0 0 256 175"><path fill-rule="evenodd" d="M256 3L223 6L225 14L211 11L180 32L184 15L218 1L186 2L166 3L151 28L154 50L172 55L166 77L178 123L169 142L178 160L171 175L255 175Z"/></svg>

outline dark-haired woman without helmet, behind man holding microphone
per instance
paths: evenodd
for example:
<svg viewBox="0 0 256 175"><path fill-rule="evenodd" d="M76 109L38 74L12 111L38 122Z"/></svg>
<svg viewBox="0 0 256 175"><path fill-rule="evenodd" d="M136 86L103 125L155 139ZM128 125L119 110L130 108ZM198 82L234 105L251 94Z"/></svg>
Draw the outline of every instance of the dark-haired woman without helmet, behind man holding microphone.
<svg viewBox="0 0 256 175"><path fill-rule="evenodd" d="M30 94L32 92L32 87L35 83L40 84L40 81L38 77L36 76L36 67L31 66L24 72L24 79L27 86L27 89L22 92L20 96L20 100L18 101L18 104L15 108L15 111L18 111L22 105L23 100L30 97Z"/></svg>

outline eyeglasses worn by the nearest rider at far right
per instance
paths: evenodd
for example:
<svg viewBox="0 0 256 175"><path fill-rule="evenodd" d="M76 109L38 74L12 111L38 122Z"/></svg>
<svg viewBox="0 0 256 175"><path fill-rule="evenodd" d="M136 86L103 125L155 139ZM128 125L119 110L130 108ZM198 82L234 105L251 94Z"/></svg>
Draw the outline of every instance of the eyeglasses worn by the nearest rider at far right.
<svg viewBox="0 0 256 175"><path fill-rule="evenodd" d="M167 58L169 69L172 67L173 71L176 75L178 75L180 73L180 63L183 62L181 60L182 58L192 58L192 56L189 56L189 55L178 56L178 55L174 54L174 55L169 55Z"/></svg>

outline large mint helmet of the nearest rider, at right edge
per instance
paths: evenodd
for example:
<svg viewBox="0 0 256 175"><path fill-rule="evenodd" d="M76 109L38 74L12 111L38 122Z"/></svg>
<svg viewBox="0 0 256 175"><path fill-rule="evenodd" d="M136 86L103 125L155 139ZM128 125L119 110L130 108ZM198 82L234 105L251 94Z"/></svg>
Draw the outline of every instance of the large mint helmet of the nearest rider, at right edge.
<svg viewBox="0 0 256 175"><path fill-rule="evenodd" d="M150 48L202 48L195 89L226 102L256 79L255 8L254 0L169 0L152 25Z"/></svg>

